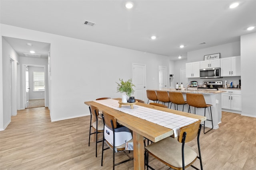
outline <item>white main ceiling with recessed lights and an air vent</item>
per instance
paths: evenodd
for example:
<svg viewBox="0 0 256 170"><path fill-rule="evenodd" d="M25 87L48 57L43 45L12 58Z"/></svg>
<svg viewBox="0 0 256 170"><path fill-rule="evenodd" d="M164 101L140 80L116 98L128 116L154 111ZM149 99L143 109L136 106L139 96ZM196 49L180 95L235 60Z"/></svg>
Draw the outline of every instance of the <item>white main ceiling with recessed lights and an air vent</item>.
<svg viewBox="0 0 256 170"><path fill-rule="evenodd" d="M125 2L1 0L0 22L173 60L178 55L186 58L188 51L239 41L241 35L256 31L246 30L256 26L255 0L132 0L130 10ZM232 2L240 5L230 9ZM84 25L85 20L96 24ZM151 40L152 35L157 38Z"/></svg>

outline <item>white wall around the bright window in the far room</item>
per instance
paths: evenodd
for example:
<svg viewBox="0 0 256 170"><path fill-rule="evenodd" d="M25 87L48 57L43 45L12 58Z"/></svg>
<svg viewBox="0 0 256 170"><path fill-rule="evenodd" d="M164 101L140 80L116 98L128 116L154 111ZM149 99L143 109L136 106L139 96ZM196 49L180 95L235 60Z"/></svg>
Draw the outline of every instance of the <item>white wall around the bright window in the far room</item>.
<svg viewBox="0 0 256 170"><path fill-rule="evenodd" d="M47 59L46 59L47 62ZM29 99L44 99L44 91L34 91L33 72L44 72L44 67L41 66L28 66L28 81L29 81ZM45 76L47 74L45 73Z"/></svg>

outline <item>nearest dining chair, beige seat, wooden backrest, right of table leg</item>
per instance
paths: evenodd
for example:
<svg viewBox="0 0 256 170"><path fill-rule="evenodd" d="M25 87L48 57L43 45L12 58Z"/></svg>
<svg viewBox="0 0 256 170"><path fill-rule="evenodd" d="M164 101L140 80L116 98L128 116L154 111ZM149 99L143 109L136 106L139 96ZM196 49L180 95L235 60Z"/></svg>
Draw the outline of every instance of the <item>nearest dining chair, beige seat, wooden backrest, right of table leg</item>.
<svg viewBox="0 0 256 170"><path fill-rule="evenodd" d="M195 123L190 125L181 127L179 130L178 138L167 137L158 141L156 143L152 143L145 147L146 152L146 166L147 169L153 169L148 165L148 153L151 154L154 158L157 158L164 164L170 166L175 170L185 170L188 166L192 166L193 168L199 170L192 164L199 159L200 160L200 168L203 169L202 165L202 157L200 151L200 131L202 125L200 124L201 120L198 120ZM197 137L197 145L198 151L195 151L190 146L185 143L192 141ZM199 156L198 156L198 154Z"/></svg>

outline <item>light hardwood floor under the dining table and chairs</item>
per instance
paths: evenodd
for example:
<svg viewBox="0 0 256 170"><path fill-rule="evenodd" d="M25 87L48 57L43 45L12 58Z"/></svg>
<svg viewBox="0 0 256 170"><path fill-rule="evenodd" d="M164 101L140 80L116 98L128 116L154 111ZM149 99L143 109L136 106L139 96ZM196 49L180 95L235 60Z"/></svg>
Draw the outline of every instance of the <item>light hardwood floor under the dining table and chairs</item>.
<svg viewBox="0 0 256 170"><path fill-rule="evenodd" d="M51 122L47 107L18 111L6 130L0 132L0 169L111 170L111 150L104 152L100 166L101 144L97 158L95 143L88 147L89 123L89 116ZM219 126L200 136L204 170L255 170L256 118L222 112ZM196 141L188 145L196 147ZM126 158L123 153L116 155L117 161ZM169 169L152 157L150 165ZM133 169L132 161L116 166L116 170Z"/></svg>

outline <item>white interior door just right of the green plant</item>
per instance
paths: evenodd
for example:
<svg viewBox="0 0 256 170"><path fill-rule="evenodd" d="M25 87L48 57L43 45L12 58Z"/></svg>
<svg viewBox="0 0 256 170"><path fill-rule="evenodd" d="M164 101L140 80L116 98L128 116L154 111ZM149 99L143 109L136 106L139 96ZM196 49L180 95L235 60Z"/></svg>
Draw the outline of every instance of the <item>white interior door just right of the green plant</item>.
<svg viewBox="0 0 256 170"><path fill-rule="evenodd" d="M135 99L146 101L146 65L132 64L132 82L135 85Z"/></svg>

